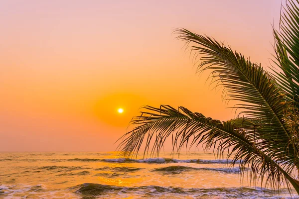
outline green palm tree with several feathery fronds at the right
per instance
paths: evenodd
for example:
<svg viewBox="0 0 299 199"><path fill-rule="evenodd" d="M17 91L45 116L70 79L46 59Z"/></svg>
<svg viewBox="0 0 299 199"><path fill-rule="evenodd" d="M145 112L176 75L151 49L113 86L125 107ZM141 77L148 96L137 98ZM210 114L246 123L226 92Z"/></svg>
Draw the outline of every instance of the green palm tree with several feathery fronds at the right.
<svg viewBox="0 0 299 199"><path fill-rule="evenodd" d="M227 154L232 166L240 163L241 174L248 167L250 182L260 180L274 190L285 184L299 194L298 3L289 0L282 7L280 31L274 29L277 67L271 73L211 37L175 30L195 56L202 56L198 69L209 70L241 112L221 122L182 106L145 106L131 121L134 129L122 136L122 155L133 156L141 148L144 155L157 155L167 138L173 152L203 144L218 157Z"/></svg>

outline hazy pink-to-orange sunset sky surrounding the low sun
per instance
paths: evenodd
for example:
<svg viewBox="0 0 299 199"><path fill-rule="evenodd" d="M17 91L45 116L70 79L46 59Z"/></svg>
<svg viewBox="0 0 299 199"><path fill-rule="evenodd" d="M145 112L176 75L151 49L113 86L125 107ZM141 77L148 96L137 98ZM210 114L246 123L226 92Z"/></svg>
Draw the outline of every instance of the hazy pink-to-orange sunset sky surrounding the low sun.
<svg viewBox="0 0 299 199"><path fill-rule="evenodd" d="M0 151L114 151L144 105L232 118L172 31L267 68L281 2L0 0Z"/></svg>

